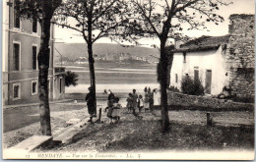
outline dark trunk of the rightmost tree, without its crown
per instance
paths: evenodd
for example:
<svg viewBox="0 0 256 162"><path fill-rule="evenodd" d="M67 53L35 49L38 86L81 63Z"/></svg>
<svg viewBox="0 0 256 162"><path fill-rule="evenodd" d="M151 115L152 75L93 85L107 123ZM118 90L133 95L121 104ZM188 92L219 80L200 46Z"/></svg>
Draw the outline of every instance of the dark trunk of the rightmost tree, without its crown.
<svg viewBox="0 0 256 162"><path fill-rule="evenodd" d="M169 117L167 107L167 66L168 59L165 55L165 42L160 40L160 108L161 108L161 132L167 133L169 131Z"/></svg>

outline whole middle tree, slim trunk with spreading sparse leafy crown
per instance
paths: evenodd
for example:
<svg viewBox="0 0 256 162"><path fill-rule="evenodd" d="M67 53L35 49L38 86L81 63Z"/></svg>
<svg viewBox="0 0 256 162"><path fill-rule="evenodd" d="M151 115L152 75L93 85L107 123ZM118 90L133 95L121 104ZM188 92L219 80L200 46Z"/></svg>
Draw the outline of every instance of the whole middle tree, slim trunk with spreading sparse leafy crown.
<svg viewBox="0 0 256 162"><path fill-rule="evenodd" d="M121 15L126 7L127 5L121 0L67 0L58 9L57 17L55 17L56 25L80 32L87 42L91 87L95 95L93 45L101 37L121 35L119 32L121 30L117 28L125 22ZM72 21L75 24L71 24Z"/></svg>

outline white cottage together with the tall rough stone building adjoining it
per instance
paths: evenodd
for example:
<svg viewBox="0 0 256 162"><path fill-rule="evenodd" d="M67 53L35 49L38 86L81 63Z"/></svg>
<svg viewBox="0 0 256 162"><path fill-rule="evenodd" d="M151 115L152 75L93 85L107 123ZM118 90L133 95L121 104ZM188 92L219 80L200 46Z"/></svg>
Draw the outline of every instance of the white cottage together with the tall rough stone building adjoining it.
<svg viewBox="0 0 256 162"><path fill-rule="evenodd" d="M218 95L224 86L230 94L254 97L254 15L231 15L224 36L202 36L172 51L170 85L180 89L181 79L202 81L205 92Z"/></svg>

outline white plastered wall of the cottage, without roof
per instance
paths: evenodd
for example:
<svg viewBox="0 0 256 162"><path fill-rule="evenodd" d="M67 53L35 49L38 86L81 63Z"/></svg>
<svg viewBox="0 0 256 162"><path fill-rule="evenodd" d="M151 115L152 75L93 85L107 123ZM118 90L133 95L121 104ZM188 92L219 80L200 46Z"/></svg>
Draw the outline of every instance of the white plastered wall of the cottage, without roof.
<svg viewBox="0 0 256 162"><path fill-rule="evenodd" d="M218 50L187 52L186 63L183 53L175 53L170 72L170 85L181 90L181 80L186 74L194 79L195 68L199 71L199 80L206 85L206 72L212 71L211 94L218 95L223 91L225 77L225 62L222 47ZM175 75L178 81L175 82Z"/></svg>

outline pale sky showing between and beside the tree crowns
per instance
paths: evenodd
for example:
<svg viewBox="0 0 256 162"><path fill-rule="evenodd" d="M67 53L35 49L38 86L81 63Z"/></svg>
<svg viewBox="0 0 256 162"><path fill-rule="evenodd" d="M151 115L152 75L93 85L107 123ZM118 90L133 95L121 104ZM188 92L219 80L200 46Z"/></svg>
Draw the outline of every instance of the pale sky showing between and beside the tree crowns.
<svg viewBox="0 0 256 162"><path fill-rule="evenodd" d="M187 30L184 33L190 37L200 37L202 35L219 36L228 33L229 20L231 14L255 14L255 0L224 0L225 2L232 2L228 6L220 7L217 14L224 17L224 23L216 26L213 23L207 23L208 30ZM55 40L56 42L67 43L85 43L79 32L68 28L55 27ZM147 42L147 46L151 47L153 44L159 46L160 41L158 38L145 38L141 42ZM100 38L96 43L115 43L111 42L109 38Z"/></svg>

